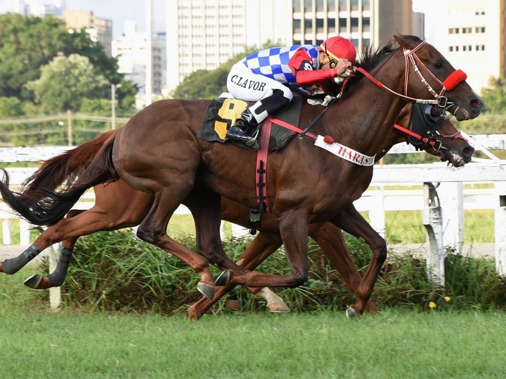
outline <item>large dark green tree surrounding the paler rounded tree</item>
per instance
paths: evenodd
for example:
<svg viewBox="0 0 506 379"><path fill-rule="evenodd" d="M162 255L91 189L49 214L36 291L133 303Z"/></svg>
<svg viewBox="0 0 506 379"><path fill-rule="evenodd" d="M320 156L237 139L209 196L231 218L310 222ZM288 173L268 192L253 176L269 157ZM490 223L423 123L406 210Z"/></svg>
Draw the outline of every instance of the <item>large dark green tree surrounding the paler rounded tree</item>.
<svg viewBox="0 0 506 379"><path fill-rule="evenodd" d="M87 57L109 83L124 81L124 75L117 72L117 60L105 55L103 46L90 39L84 30L69 32L65 22L51 15L41 17L19 14L0 15L0 97L16 97L21 102L33 101L33 93L25 84L40 77L40 67L47 65L57 56L79 54ZM134 104L132 94L137 90L132 85L124 85L118 91L120 104L129 108ZM107 98L110 88L100 88L103 98ZM124 104L123 96L129 104Z"/></svg>

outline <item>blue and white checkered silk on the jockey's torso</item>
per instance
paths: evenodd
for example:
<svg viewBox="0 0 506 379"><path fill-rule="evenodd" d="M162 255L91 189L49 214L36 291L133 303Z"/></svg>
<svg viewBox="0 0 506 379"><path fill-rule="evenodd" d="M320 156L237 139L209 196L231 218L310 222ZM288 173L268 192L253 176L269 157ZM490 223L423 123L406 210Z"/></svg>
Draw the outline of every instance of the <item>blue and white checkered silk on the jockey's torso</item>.
<svg viewBox="0 0 506 379"><path fill-rule="evenodd" d="M318 45L293 45L260 50L241 62L255 74L274 79L280 83L296 83L288 61L298 49L304 49L313 60L313 69L318 69Z"/></svg>

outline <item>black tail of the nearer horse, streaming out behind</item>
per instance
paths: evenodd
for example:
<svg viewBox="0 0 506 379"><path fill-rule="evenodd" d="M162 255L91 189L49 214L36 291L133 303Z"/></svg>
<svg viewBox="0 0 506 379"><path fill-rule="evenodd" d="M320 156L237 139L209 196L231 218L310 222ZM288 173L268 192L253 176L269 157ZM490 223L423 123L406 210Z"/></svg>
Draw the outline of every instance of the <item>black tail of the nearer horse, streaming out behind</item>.
<svg viewBox="0 0 506 379"><path fill-rule="evenodd" d="M9 189L9 174L2 169L5 178L0 181L0 194L16 213L33 225L53 225L67 214L88 188L119 179L112 164L113 144L114 138L109 138L67 189L58 192L55 188L37 185L32 195L25 192L20 196Z"/></svg>

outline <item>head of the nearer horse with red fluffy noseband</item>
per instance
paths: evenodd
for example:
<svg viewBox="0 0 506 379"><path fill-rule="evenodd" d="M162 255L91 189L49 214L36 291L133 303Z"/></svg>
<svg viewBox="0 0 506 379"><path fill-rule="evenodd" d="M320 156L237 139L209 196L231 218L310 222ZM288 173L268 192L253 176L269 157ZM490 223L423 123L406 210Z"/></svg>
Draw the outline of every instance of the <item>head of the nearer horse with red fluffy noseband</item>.
<svg viewBox="0 0 506 379"><path fill-rule="evenodd" d="M438 101L437 107L448 110L458 121L478 117L483 107L465 81L466 74L455 70L434 46L414 36L395 36L404 51L405 95Z"/></svg>

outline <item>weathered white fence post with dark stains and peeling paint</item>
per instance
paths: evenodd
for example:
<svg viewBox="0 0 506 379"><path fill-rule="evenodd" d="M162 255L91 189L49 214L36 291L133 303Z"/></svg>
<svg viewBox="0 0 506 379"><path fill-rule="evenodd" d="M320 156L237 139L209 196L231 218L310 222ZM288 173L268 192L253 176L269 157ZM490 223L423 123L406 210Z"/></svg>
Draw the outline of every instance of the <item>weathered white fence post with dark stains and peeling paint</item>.
<svg viewBox="0 0 506 379"><path fill-rule="evenodd" d="M423 223L427 236L427 273L429 280L444 286L443 223L441 204L436 188L430 182L424 183Z"/></svg>

